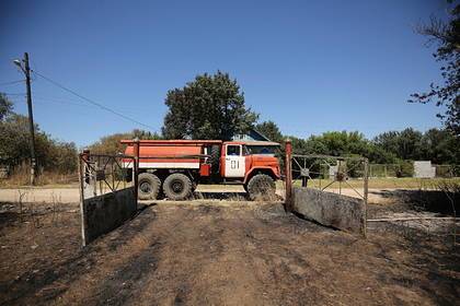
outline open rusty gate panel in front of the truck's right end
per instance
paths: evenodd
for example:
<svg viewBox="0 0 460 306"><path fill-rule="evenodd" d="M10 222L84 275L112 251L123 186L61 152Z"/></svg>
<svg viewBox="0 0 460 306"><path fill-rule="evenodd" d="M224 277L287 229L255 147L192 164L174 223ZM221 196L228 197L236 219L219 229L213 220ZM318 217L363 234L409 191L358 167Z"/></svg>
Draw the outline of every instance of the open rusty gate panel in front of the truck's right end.
<svg viewBox="0 0 460 306"><path fill-rule="evenodd" d="M366 236L368 160L297 155L286 143L287 209L323 225Z"/></svg>

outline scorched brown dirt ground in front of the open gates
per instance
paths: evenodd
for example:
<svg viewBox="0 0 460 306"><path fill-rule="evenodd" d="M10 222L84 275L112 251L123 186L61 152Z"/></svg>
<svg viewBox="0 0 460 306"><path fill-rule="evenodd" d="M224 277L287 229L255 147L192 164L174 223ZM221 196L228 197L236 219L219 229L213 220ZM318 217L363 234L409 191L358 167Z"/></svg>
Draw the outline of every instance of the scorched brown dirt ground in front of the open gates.
<svg viewBox="0 0 460 306"><path fill-rule="evenodd" d="M37 212L31 205L30 212ZM280 204L161 202L80 248L77 205L0 214L2 305L453 305L458 251ZM412 238L411 238L412 237Z"/></svg>

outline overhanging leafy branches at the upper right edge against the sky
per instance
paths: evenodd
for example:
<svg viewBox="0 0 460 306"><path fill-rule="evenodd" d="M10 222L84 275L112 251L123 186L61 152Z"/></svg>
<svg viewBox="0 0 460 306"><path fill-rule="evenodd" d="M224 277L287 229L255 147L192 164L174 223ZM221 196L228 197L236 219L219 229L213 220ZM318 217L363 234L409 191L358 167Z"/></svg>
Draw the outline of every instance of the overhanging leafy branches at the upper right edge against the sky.
<svg viewBox="0 0 460 306"><path fill-rule="evenodd" d="M437 106L445 106L445 114L437 116L446 128L460 136L460 4L450 10L447 22L432 17L428 25L419 26L417 31L429 38L428 43L436 44L433 56L441 63L445 82L442 85L432 83L428 92L412 94L410 102L435 102Z"/></svg>

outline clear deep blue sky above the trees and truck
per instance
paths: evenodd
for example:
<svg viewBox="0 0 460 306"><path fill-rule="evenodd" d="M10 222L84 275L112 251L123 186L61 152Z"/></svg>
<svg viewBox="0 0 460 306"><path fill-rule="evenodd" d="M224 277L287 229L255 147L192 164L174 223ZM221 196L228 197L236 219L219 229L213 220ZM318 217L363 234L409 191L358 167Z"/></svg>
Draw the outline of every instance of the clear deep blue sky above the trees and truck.
<svg viewBox="0 0 460 306"><path fill-rule="evenodd" d="M440 80L414 33L430 14L446 1L3 0L0 83L21 79L12 60L28 51L32 69L160 131L168 90L220 69L286 134L426 130L439 109L406 99ZM12 99L25 114L25 98ZM41 78L33 99L41 128L80 146L142 128Z"/></svg>

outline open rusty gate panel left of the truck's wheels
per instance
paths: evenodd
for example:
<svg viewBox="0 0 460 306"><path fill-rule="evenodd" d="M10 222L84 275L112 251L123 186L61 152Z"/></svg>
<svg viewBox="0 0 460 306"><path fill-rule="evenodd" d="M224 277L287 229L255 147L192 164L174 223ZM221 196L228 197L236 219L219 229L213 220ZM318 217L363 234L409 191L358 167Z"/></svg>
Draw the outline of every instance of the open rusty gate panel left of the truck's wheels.
<svg viewBox="0 0 460 306"><path fill-rule="evenodd" d="M137 158L127 155L79 155L83 246L118 227L137 212Z"/></svg>

